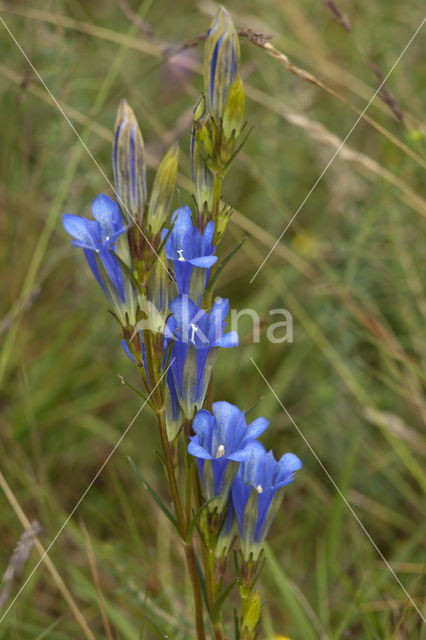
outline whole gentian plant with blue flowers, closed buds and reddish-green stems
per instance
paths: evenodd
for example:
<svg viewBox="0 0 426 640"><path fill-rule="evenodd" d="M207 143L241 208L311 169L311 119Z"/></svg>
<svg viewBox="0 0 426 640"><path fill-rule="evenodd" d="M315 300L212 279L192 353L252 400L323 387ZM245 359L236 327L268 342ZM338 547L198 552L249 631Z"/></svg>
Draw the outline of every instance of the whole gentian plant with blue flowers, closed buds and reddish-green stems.
<svg viewBox="0 0 426 640"><path fill-rule="evenodd" d="M211 616L222 591L224 559L239 538L240 637L251 640L260 613L259 595L253 593L257 562L284 488L301 467L291 453L277 462L258 441L269 424L266 418L248 424L235 405L213 401L219 349L239 343L238 334L226 330L229 301L213 293L219 275L216 247L232 213L221 208L221 185L245 128L239 61L237 31L220 8L206 37L205 91L191 130L194 211L182 206L170 215L177 144L148 188L142 134L122 101L113 147L117 201L98 195L92 219L63 215L71 244L83 249L122 327L124 350L137 365L156 416L173 500L170 517L184 542L199 639L205 636L194 529L204 547ZM179 460L179 440L184 460ZM185 469L184 497L179 465ZM220 624L214 622L215 638L224 637Z"/></svg>

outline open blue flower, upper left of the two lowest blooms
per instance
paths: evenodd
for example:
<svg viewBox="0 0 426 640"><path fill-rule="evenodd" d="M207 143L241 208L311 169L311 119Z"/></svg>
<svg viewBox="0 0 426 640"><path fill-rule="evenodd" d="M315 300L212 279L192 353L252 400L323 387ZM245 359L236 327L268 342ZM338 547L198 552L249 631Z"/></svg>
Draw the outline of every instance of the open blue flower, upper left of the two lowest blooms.
<svg viewBox="0 0 426 640"><path fill-rule="evenodd" d="M195 416L188 451L197 458L207 500L218 497L210 509L222 511L240 463L250 459L269 421L257 418L247 426L244 412L229 402L215 402L212 409L213 415L202 409Z"/></svg>

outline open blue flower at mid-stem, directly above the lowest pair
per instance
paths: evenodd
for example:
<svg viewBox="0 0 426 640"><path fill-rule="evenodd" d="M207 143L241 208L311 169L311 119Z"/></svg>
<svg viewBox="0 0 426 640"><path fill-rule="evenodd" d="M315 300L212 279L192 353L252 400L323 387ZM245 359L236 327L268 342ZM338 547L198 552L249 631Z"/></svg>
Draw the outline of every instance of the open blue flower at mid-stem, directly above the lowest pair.
<svg viewBox="0 0 426 640"><path fill-rule="evenodd" d="M179 403L187 418L201 409L219 347L238 346L236 331L225 332L229 302L216 298L207 313L184 295L170 303L173 378Z"/></svg>

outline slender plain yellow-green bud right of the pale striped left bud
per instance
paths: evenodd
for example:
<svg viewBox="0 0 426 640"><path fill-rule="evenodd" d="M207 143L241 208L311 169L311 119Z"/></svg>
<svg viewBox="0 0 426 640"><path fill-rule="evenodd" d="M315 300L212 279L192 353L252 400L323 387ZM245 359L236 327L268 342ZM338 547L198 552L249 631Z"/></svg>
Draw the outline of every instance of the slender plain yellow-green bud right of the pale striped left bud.
<svg viewBox="0 0 426 640"><path fill-rule="evenodd" d="M179 147L175 143L162 159L155 174L148 207L148 224L153 233L158 233L167 220L176 186Z"/></svg>

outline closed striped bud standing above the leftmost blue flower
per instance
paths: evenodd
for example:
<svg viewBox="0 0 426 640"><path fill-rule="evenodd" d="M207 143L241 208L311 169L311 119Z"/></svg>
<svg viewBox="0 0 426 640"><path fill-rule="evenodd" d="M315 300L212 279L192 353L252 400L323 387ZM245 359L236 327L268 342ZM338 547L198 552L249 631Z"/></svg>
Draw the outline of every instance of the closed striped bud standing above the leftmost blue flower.
<svg viewBox="0 0 426 640"><path fill-rule="evenodd" d="M142 224L146 203L145 151L133 110L122 100L114 135L113 166L117 200L130 222Z"/></svg>

